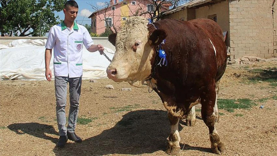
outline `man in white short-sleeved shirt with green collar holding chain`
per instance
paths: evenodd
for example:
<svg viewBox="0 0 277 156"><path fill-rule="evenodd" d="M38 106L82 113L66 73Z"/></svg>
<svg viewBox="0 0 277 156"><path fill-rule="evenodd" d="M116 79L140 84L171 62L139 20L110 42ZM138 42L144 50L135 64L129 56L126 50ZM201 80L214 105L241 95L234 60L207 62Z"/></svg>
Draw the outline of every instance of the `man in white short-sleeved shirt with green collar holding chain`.
<svg viewBox="0 0 277 156"><path fill-rule="evenodd" d="M60 138L57 147L64 147L67 140L81 142L82 139L75 134L76 121L79 111L79 97L82 84L82 50L83 45L89 52L97 50L102 54L104 47L94 45L88 30L74 21L78 14L78 4L74 0L67 1L63 9L65 19L54 25L48 35L45 45L45 76L51 81L52 71L49 68L54 48L54 75L56 95L56 115ZM70 109L68 126L66 127L66 91L69 83Z"/></svg>

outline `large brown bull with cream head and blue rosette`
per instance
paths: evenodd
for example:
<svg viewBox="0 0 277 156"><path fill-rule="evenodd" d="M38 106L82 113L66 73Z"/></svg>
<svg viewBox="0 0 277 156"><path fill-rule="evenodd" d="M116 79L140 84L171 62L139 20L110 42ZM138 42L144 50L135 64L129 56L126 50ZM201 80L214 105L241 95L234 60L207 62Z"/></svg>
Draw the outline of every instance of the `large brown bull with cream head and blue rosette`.
<svg viewBox="0 0 277 156"><path fill-rule="evenodd" d="M164 39L165 44L161 44ZM118 34L109 36L109 41L116 52L107 68L108 77L130 85L147 81L167 109L171 124L168 154L178 154L179 119L186 119L188 126L194 126L194 105L198 103L209 128L212 152L225 152L214 127L219 117L218 83L227 62L222 30L216 22L163 19L149 24L143 17L130 17ZM166 66L157 65L161 59L157 54L158 45L165 50Z"/></svg>

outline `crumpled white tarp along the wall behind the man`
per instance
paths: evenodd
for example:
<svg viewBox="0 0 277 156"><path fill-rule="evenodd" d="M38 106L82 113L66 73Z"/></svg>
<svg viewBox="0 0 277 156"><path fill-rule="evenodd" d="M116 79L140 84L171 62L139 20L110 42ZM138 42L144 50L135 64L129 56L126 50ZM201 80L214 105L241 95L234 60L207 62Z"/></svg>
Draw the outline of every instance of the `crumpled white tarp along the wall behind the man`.
<svg viewBox="0 0 277 156"><path fill-rule="evenodd" d="M0 80L46 80L45 43L46 39L19 39L8 45L0 44ZM114 51L103 46L104 53L112 59ZM83 79L107 78L109 64L98 51L91 53L83 48ZM53 79L53 51L50 69Z"/></svg>

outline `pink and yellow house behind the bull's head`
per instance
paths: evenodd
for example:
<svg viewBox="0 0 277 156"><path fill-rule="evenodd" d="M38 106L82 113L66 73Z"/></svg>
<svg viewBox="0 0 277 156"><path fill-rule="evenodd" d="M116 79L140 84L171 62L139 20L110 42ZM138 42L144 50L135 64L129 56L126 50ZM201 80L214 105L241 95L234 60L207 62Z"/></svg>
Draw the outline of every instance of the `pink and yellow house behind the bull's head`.
<svg viewBox="0 0 277 156"><path fill-rule="evenodd" d="M161 11L168 10L171 4L164 4ZM149 13L153 12L154 5L151 0L110 0L109 5L101 10L93 12L88 18L91 18L91 29L93 33L101 34L106 27L117 30L120 29L130 16L143 16L149 18ZM143 14L144 13L144 14Z"/></svg>

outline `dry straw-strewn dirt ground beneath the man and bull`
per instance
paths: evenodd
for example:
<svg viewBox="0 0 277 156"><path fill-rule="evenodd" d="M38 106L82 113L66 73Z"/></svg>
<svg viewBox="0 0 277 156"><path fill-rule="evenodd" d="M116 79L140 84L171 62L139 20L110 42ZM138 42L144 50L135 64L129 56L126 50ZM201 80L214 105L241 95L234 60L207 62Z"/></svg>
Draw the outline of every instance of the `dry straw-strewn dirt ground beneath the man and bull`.
<svg viewBox="0 0 277 156"><path fill-rule="evenodd" d="M226 145L224 155L277 155L277 86L276 81L267 81L276 80L277 75L264 72L276 67L277 61L228 65L219 98L249 98L257 105L234 112L219 110L216 129ZM77 124L82 143L69 140L65 148L56 148L54 81L0 81L0 155L167 155L170 124L166 114L158 95L148 93L146 85L135 88L109 79L83 80L79 118L91 122ZM178 155L215 155L199 111L196 116L194 127L180 122Z"/></svg>

